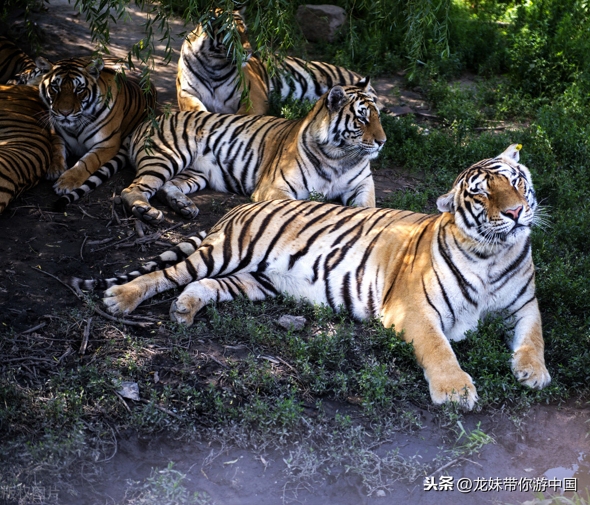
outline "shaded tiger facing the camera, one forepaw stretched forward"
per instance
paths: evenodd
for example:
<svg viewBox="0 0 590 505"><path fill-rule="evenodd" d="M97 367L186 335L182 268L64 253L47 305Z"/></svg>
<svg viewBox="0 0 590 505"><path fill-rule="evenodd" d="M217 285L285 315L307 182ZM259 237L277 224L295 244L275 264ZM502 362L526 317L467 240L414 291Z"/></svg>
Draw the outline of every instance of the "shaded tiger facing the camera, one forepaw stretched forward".
<svg viewBox="0 0 590 505"><path fill-rule="evenodd" d="M153 85L144 93L134 73L117 83L117 72L104 68L101 60L68 58L53 64L38 57L35 63L43 74L39 92L48 119L67 153L78 158L72 168L64 166L53 185L61 195L78 188L117 155L123 139L155 106L156 93Z"/></svg>

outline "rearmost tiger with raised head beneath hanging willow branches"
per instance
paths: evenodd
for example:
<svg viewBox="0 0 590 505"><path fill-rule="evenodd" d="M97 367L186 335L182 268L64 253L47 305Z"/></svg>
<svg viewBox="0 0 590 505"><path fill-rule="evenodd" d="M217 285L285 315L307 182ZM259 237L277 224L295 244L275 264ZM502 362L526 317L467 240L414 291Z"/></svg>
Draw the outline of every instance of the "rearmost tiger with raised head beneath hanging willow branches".
<svg viewBox="0 0 590 505"><path fill-rule="evenodd" d="M214 23L216 19L228 16L228 13L215 9L211 15ZM290 56L284 60L271 57L272 64L277 68L271 77L266 65L253 53L248 42L244 9L233 11L228 22L237 29L245 54L242 67L244 83L239 83L238 66L224 42L228 31L214 26L212 35L209 35L198 25L183 42L178 60L176 93L181 111L266 115L268 99L273 91L283 98L291 95L297 100L317 100L337 84L358 84L362 79L347 68ZM248 100L242 101L244 89L248 91ZM372 88L371 93L376 99Z"/></svg>

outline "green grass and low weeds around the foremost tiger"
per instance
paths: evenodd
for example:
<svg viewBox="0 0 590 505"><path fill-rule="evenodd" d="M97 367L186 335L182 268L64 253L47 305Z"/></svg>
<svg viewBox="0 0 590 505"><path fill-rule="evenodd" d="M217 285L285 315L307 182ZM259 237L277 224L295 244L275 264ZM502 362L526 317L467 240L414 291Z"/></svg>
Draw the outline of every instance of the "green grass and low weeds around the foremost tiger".
<svg viewBox="0 0 590 505"><path fill-rule="evenodd" d="M457 5L455 16L471 12ZM464 40L457 28L453 57L427 61L415 77L439 121L383 116L388 142L373 164L375 170L403 168L417 179L413 188L379 205L431 213L460 170L522 143L521 161L550 216L548 226L533 232L533 260L552 383L533 392L515 381L504 342L511 328L501 314L491 314L453 343L477 384L484 414L507 410L516 420L532 405L587 395L590 380L590 87L582 78L584 65L573 69L573 60L564 59L581 54L575 40L563 42L569 55L550 50L577 21L555 9L543 18L548 3L537 5L539 10L531 4L528 11L496 14L497 21L512 19L509 27L491 25L481 15L463 17ZM540 18L555 30L544 32L536 24ZM532 35L525 39L527 32ZM477 44L468 50L470 40ZM493 48L486 58L484 47ZM540 68L529 68L536 62ZM449 80L466 69L478 73L473 87ZM537 73L547 78L536 80ZM310 104L287 100L273 106L276 114L300 117ZM487 124L510 128L475 129ZM213 210L221 212L224 204L217 202ZM261 453L283 448L287 483L313 484L336 468L358 476L367 494L390 490L399 480L415 482L493 441L479 425L468 430L466 415L455 406L431 406L412 347L378 321L355 322L345 313L281 297L208 307L187 329L168 322L165 306L151 309L158 315L147 328L96 317L90 303L54 314L43 336L6 332L0 353L12 361L0 377L0 482L12 493L9 499L24 493L39 501L48 490L64 496L80 482L96 481L100 463L112 458L124 430L197 437ZM276 324L282 314L304 316L306 326L300 332L282 329ZM64 355L64 343L86 324L92 327L91 359L78 359L75 351ZM143 401L117 395L120 381L136 382ZM331 415L331 402L349 413ZM379 451L400 429L421 427L424 409L457 440L450 454L441 452L427 463ZM172 466L155 468L129 486L128 503L208 500L188 491L187 477ZM588 503L588 496L542 500L537 503L578 504Z"/></svg>

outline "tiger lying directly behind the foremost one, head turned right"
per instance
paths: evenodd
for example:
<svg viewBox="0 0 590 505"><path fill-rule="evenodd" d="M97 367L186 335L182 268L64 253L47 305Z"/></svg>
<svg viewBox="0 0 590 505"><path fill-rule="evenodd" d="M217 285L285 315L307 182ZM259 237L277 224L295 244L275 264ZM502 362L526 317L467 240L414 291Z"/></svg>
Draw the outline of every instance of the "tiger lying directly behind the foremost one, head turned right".
<svg viewBox="0 0 590 505"><path fill-rule="evenodd" d="M357 86L335 86L306 117L239 116L205 111L176 112L138 127L113 162L77 191L56 203L63 209L125 163L135 165L135 180L121 192L136 217L158 223L162 211L149 204L158 194L185 218L199 209L186 194L207 184L217 191L267 199L304 199L312 192L342 204L375 206L369 160L386 136L379 110L364 78ZM146 137L149 143L146 144Z"/></svg>

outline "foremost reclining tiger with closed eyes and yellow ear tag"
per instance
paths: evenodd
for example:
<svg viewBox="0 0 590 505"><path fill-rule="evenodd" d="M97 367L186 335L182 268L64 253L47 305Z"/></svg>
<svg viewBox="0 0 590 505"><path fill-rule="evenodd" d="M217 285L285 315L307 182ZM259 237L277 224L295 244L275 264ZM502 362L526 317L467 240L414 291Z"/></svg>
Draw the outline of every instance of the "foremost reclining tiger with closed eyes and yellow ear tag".
<svg viewBox="0 0 590 505"><path fill-rule="evenodd" d="M541 218L520 147L463 170L437 199L441 214L293 200L237 206L205 237L179 247L190 254L180 263L129 282L139 271L100 283L110 285L104 305L128 314L156 293L186 286L170 309L172 321L182 324L192 324L207 304L240 295L255 301L287 293L336 311L344 307L357 319L379 317L385 327L403 330L432 401L468 409L478 399L476 388L449 340L462 339L487 313L503 311L514 325L514 376L542 389L550 376L530 245ZM171 257L143 272L163 263ZM70 283L89 288L96 281Z"/></svg>

